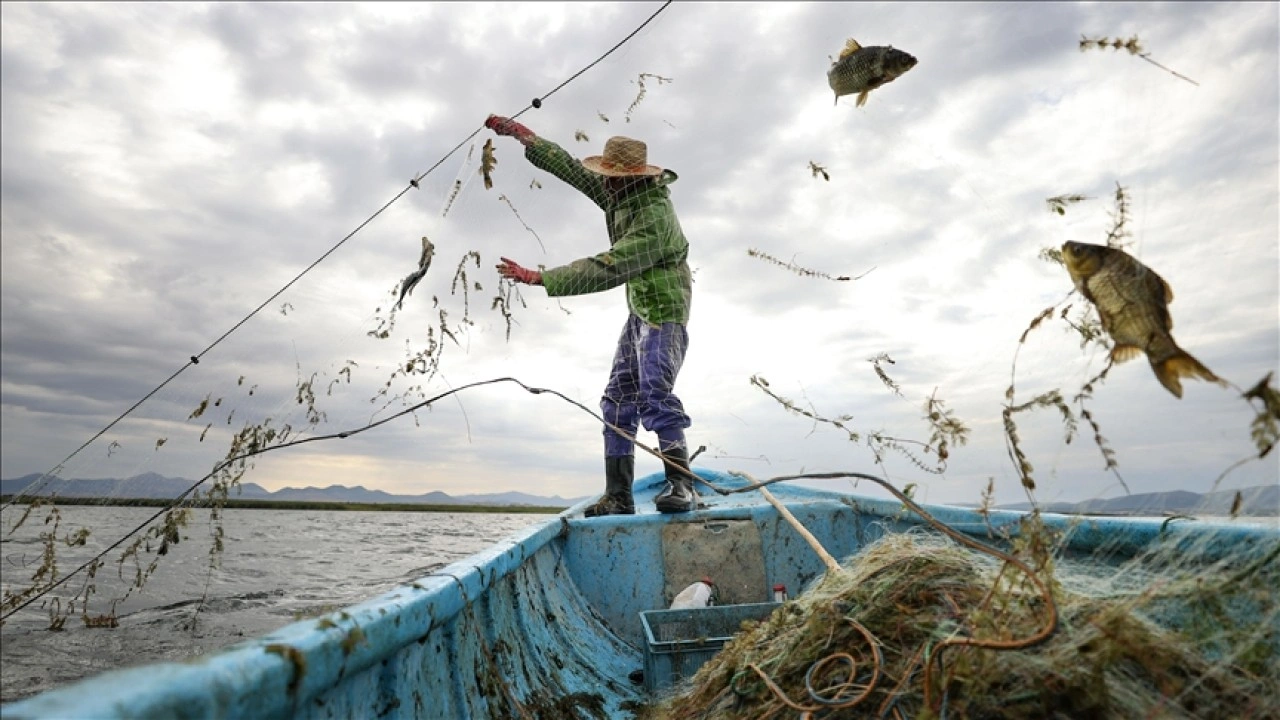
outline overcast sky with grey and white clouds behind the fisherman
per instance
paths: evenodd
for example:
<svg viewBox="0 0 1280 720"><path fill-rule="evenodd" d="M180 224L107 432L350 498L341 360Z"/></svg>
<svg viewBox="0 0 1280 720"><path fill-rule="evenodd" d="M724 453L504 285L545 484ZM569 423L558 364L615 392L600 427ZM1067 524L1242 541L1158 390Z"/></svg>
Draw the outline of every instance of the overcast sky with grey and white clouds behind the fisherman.
<svg viewBox="0 0 1280 720"><path fill-rule="evenodd" d="M493 135L476 131L659 6L5 3L0 475L50 470L179 370L59 474L200 478L246 423L356 429L508 375L594 410L622 291L557 301L522 288L509 338L493 300L499 255L553 266L599 252L600 213L509 138L495 138L485 190ZM1137 35L1198 85L1123 50L1082 53L1082 35ZM919 65L864 108L833 105L826 70L847 37ZM580 158L611 135L643 138L680 174L695 284L677 392L691 445L708 448L699 464L883 471L934 502L977 502L991 479L998 502L1019 502L1001 421L1011 379L1015 402L1056 388L1073 415L1088 409L1133 492L1206 492L1253 451L1238 389L1187 382L1178 400L1138 360L1082 406L1071 398L1103 351L1057 315L1019 337L1048 306L1079 316L1066 272L1039 254L1105 242L1119 183L1128 250L1174 287L1178 342L1239 388L1280 368L1277 87L1275 4L675 3L521 120ZM1051 213L1046 199L1064 193L1089 199ZM389 336L370 337L422 236L430 273ZM859 278L801 275L750 250ZM457 342L443 338L439 372L403 373L442 340L442 310ZM900 396L868 361L881 354ZM863 438L788 413L753 377L809 413L850 416ZM312 378L314 427L298 404ZM867 434L927 441L931 396L969 443L942 475L895 452L877 468ZM1038 500L1123 493L1083 421L1066 442L1052 407L1015 418ZM600 489L600 457L580 409L497 384L269 454L244 480L573 497ZM639 460L637 473L657 469ZM1276 482L1267 459L1220 489Z"/></svg>

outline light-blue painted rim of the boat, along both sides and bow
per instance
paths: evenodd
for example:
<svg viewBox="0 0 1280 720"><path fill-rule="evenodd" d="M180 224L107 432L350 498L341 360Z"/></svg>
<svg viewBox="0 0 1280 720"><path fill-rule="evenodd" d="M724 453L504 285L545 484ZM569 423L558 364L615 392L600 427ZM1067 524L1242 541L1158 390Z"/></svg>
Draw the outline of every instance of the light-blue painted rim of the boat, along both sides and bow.
<svg viewBox="0 0 1280 720"><path fill-rule="evenodd" d="M746 480L712 470L696 470L717 484ZM660 473L641 478L637 500L660 484ZM780 501L795 510L845 510L872 521L923 525L924 520L897 500L881 500L841 491L777 487ZM744 493L744 497L749 497ZM3 706L4 716L59 716L92 701L119 716L147 716L182 705L188 714L206 716L288 716L301 703L396 656L413 642L425 642L438 628L453 621L472 601L484 597L495 583L516 573L556 538L577 527L655 525L717 520L759 520L773 509L754 498L717 505L687 514L643 512L586 519L582 511L594 498L584 500L540 524L530 525L468 557L406 582L379 596L320 618L291 623L274 632L243 641L186 662L159 662L102 673L77 683ZM838 506L838 507L833 507ZM986 512L946 505L920 505L934 519L977 538L995 541L1015 537L1023 510ZM1111 518L1042 514L1046 527L1064 533L1061 544L1089 552L1102 547L1119 555L1140 553L1153 543L1201 542L1207 560L1230 553L1270 550L1280 543L1277 528L1221 521L1172 521L1153 518ZM1207 538L1207 542L1204 542ZM358 634L356 630L358 629ZM355 641L353 641L355 638ZM371 642L360 642L370 638ZM301 671L300 671L301 670ZM137 691L137 685L164 688Z"/></svg>

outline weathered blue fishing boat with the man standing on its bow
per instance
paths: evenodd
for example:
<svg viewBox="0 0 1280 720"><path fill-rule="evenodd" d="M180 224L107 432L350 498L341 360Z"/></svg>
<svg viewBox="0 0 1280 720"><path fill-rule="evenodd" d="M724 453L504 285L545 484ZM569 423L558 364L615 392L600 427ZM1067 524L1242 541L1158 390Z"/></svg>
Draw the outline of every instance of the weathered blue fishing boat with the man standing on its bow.
<svg viewBox="0 0 1280 720"><path fill-rule="evenodd" d="M746 480L705 469L722 488ZM701 493L704 507L659 515L654 474L636 482L632 516L582 518L585 502L485 552L325 618L180 664L106 673L3 708L8 720L68 717L630 717L649 702L641 614L666 609L705 575L721 607L791 594L826 568L759 492ZM897 501L785 483L778 502L831 555L923 524ZM923 506L987 538L1018 512ZM1204 561L1271 555L1274 527L1199 520L1066 518L1068 552L1121 562L1152 543L1194 542ZM1274 560L1274 557L1271 557ZM1274 588L1272 588L1274 591ZM650 671L653 664L650 657Z"/></svg>

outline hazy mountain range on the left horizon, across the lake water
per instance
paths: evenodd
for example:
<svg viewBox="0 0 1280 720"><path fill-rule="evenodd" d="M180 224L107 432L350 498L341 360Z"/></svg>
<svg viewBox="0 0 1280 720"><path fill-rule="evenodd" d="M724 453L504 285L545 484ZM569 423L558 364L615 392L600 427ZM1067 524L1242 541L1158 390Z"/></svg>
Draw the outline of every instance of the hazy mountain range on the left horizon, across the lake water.
<svg viewBox="0 0 1280 720"><path fill-rule="evenodd" d="M41 475L0 480L0 495L18 495L38 480ZM51 477L41 483L36 495L42 497L109 497L109 498L173 498L186 492L193 480L166 478L156 473L146 473L133 478L101 479L63 479ZM424 495L390 495L380 489L364 487L329 486L326 488L282 488L268 491L257 483L241 483L239 493L232 495L243 500L275 500L305 502L370 502L370 503L417 503L417 505L518 505L541 507L568 507L581 501L581 497L563 498L558 495L543 497L522 492L499 492L489 495L461 495L457 497L443 492Z"/></svg>

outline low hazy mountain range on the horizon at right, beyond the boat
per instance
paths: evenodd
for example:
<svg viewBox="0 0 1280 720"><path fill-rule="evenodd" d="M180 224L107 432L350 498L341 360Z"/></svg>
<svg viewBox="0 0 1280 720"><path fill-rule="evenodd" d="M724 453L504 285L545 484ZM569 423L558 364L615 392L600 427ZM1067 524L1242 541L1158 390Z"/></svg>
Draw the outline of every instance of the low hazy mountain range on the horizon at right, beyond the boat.
<svg viewBox="0 0 1280 720"><path fill-rule="evenodd" d="M1196 493L1188 491L1148 492L1084 502L1051 502L1042 505L1046 512L1092 515L1164 515L1183 512L1194 515L1230 515L1236 491ZM1239 515L1270 518L1280 515L1280 486L1254 486L1240 488ZM1029 510L1029 502L1002 505L1005 510Z"/></svg>

